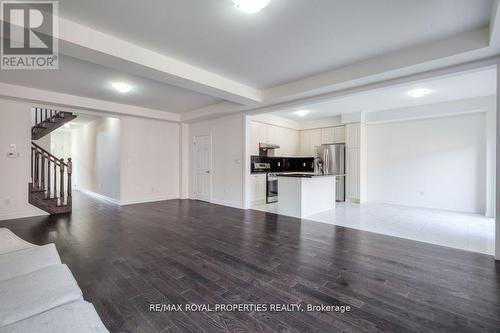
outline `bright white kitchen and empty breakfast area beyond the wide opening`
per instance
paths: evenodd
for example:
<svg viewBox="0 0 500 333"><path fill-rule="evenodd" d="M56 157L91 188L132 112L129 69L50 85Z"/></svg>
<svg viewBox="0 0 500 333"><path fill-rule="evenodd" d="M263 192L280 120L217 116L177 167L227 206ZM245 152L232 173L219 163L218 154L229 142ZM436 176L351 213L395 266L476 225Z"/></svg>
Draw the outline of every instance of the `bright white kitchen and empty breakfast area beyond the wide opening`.
<svg viewBox="0 0 500 333"><path fill-rule="evenodd" d="M493 253L493 76L482 70L249 116L251 208ZM442 101L450 91L469 95ZM333 157L337 147L343 154Z"/></svg>

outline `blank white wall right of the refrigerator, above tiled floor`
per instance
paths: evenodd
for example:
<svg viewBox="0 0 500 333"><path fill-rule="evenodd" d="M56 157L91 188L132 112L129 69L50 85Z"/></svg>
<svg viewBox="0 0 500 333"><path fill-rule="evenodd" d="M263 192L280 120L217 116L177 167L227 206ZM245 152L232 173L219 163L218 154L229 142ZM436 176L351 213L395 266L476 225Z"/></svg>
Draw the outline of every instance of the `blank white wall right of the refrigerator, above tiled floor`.
<svg viewBox="0 0 500 333"><path fill-rule="evenodd" d="M368 126L368 200L485 213L485 113Z"/></svg>

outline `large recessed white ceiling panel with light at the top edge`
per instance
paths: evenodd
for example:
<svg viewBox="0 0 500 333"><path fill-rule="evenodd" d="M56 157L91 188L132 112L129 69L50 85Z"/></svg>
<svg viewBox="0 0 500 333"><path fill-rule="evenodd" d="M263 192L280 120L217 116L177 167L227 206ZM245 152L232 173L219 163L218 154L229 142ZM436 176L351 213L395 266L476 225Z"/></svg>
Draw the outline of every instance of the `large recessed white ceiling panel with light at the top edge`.
<svg viewBox="0 0 500 333"><path fill-rule="evenodd" d="M61 16L255 88L489 24L492 0L62 0ZM157 97L157 99L161 99Z"/></svg>

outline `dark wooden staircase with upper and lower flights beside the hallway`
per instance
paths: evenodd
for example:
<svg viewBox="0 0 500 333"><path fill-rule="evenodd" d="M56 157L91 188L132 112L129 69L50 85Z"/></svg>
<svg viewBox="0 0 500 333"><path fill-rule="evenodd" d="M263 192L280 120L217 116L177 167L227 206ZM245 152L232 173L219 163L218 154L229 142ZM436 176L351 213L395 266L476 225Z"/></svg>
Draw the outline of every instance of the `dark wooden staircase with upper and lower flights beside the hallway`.
<svg viewBox="0 0 500 333"><path fill-rule="evenodd" d="M31 139L38 140L76 118L70 112L35 108ZM31 142L31 182L28 184L29 203L49 214L69 213L71 201L71 158L58 159L33 141Z"/></svg>

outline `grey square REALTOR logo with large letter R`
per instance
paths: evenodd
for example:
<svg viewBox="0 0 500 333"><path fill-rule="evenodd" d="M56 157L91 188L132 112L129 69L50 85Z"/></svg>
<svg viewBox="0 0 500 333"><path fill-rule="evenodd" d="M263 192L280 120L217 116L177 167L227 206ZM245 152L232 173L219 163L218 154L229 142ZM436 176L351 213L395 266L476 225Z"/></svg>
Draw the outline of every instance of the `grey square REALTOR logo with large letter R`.
<svg viewBox="0 0 500 333"><path fill-rule="evenodd" d="M58 2L1 1L1 69L58 68Z"/></svg>

